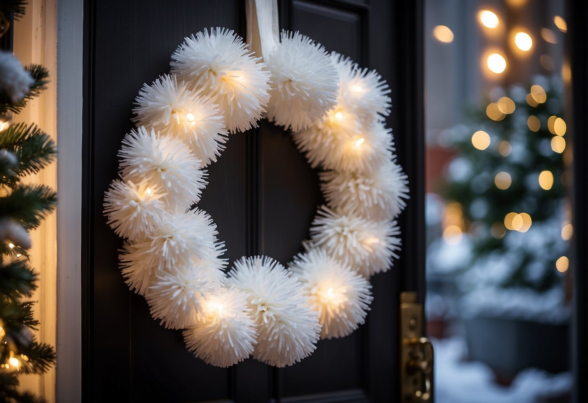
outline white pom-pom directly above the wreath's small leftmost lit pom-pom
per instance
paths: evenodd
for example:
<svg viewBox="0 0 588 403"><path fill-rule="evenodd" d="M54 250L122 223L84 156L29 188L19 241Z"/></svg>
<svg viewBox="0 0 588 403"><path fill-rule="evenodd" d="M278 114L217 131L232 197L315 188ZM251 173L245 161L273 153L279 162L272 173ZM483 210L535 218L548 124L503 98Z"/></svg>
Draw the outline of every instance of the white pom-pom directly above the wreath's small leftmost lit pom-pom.
<svg viewBox="0 0 588 403"><path fill-rule="evenodd" d="M166 193L162 199L172 208L189 209L206 187L200 160L181 140L156 135L153 129L141 126L131 130L122 140L118 156L126 182L144 181L161 189Z"/></svg>

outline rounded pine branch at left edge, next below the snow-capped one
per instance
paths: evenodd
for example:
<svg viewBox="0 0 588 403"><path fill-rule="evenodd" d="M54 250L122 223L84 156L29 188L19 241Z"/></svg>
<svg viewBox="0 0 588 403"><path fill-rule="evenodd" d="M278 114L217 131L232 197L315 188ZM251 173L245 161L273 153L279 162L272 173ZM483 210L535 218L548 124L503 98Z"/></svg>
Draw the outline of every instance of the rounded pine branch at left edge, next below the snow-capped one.
<svg viewBox="0 0 588 403"><path fill-rule="evenodd" d="M16 123L0 135L0 149L13 153L18 163L16 176L37 173L55 158L55 142L36 125Z"/></svg>

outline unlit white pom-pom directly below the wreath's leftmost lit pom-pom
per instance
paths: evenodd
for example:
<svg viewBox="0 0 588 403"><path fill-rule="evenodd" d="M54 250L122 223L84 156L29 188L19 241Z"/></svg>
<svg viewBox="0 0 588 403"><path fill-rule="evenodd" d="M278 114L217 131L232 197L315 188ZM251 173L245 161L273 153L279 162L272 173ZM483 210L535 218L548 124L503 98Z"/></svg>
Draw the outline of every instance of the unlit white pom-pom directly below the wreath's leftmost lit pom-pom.
<svg viewBox="0 0 588 403"><path fill-rule="evenodd" d="M216 259L223 252L216 234L216 224L205 211L176 211L134 247L136 255L159 274L195 261Z"/></svg>

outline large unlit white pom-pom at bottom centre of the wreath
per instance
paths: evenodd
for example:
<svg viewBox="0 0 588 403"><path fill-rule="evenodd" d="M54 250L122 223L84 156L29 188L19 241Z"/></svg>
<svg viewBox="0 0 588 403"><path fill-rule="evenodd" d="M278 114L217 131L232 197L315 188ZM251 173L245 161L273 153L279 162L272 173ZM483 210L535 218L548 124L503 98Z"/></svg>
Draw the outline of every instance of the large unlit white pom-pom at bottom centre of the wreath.
<svg viewBox="0 0 588 403"><path fill-rule="evenodd" d="M227 284L248 294L258 325L256 360L275 367L293 365L316 349L320 324L296 276L269 257L242 258Z"/></svg>

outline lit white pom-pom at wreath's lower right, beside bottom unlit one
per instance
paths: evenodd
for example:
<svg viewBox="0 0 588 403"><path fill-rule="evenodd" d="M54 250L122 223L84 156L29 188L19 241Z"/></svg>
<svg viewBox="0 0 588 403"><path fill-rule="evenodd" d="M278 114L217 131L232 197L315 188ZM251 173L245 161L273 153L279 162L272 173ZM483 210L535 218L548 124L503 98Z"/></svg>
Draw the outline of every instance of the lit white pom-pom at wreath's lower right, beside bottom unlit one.
<svg viewBox="0 0 588 403"><path fill-rule="evenodd" d="M319 314L321 338L345 337L364 323L373 300L372 285L348 265L322 249L312 249L295 256L288 268Z"/></svg>

